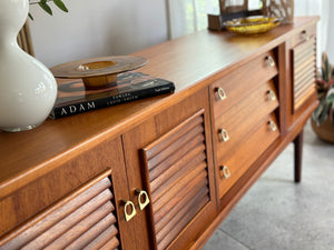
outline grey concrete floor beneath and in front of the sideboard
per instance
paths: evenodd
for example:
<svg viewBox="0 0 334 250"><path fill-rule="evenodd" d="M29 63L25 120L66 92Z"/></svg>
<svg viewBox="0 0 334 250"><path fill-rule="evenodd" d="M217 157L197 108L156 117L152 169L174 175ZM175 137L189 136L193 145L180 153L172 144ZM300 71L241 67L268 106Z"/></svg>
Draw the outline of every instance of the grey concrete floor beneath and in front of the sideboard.
<svg viewBox="0 0 334 250"><path fill-rule="evenodd" d="M288 146L203 250L334 250L334 144L304 129L302 182Z"/></svg>

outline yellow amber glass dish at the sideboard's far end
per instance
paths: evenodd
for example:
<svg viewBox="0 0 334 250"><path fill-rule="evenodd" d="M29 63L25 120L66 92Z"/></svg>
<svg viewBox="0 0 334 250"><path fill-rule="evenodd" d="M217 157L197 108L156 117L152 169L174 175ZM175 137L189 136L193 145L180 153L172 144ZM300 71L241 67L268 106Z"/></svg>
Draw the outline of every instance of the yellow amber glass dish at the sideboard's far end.
<svg viewBox="0 0 334 250"><path fill-rule="evenodd" d="M277 18L248 17L225 21L227 30L239 34L256 34L267 32L281 23Z"/></svg>

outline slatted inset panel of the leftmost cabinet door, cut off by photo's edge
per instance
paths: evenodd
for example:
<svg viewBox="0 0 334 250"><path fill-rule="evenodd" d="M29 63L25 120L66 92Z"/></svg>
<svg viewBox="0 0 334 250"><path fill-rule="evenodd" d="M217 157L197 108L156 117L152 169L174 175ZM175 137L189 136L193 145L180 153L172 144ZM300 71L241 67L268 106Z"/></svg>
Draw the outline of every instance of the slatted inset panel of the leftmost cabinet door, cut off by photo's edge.
<svg viewBox="0 0 334 250"><path fill-rule="evenodd" d="M33 219L0 249L117 249L111 182L106 176Z"/></svg>

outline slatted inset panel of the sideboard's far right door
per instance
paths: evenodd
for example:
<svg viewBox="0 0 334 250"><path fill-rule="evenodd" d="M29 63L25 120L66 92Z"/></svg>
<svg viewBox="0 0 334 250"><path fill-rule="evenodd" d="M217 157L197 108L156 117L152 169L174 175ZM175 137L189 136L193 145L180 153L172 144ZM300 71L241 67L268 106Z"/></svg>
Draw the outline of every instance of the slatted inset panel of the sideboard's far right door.
<svg viewBox="0 0 334 250"><path fill-rule="evenodd" d="M293 49L293 111L296 111L315 91L315 38Z"/></svg>

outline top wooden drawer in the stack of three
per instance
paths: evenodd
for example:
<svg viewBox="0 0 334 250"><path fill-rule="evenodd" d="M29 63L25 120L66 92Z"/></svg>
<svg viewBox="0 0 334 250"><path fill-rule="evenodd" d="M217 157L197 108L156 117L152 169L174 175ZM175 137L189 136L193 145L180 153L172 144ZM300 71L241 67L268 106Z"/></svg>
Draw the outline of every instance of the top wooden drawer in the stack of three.
<svg viewBox="0 0 334 250"><path fill-rule="evenodd" d="M274 52L268 51L214 82L210 87L214 117L217 118L236 106L276 74L277 63Z"/></svg>

